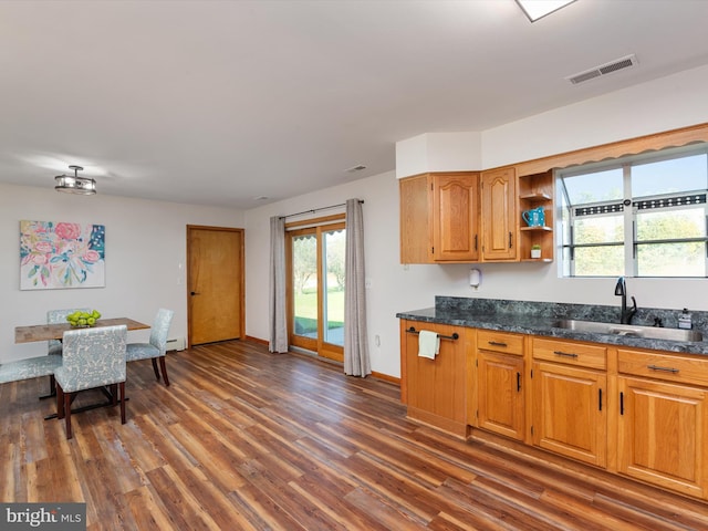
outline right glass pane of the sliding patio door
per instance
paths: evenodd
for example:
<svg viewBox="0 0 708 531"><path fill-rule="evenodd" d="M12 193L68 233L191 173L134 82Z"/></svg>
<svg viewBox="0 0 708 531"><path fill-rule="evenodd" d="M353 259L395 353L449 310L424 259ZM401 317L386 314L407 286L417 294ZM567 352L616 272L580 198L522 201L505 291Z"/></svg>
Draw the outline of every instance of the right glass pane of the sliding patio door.
<svg viewBox="0 0 708 531"><path fill-rule="evenodd" d="M344 243L345 231L324 232L324 341L344 346Z"/></svg>

